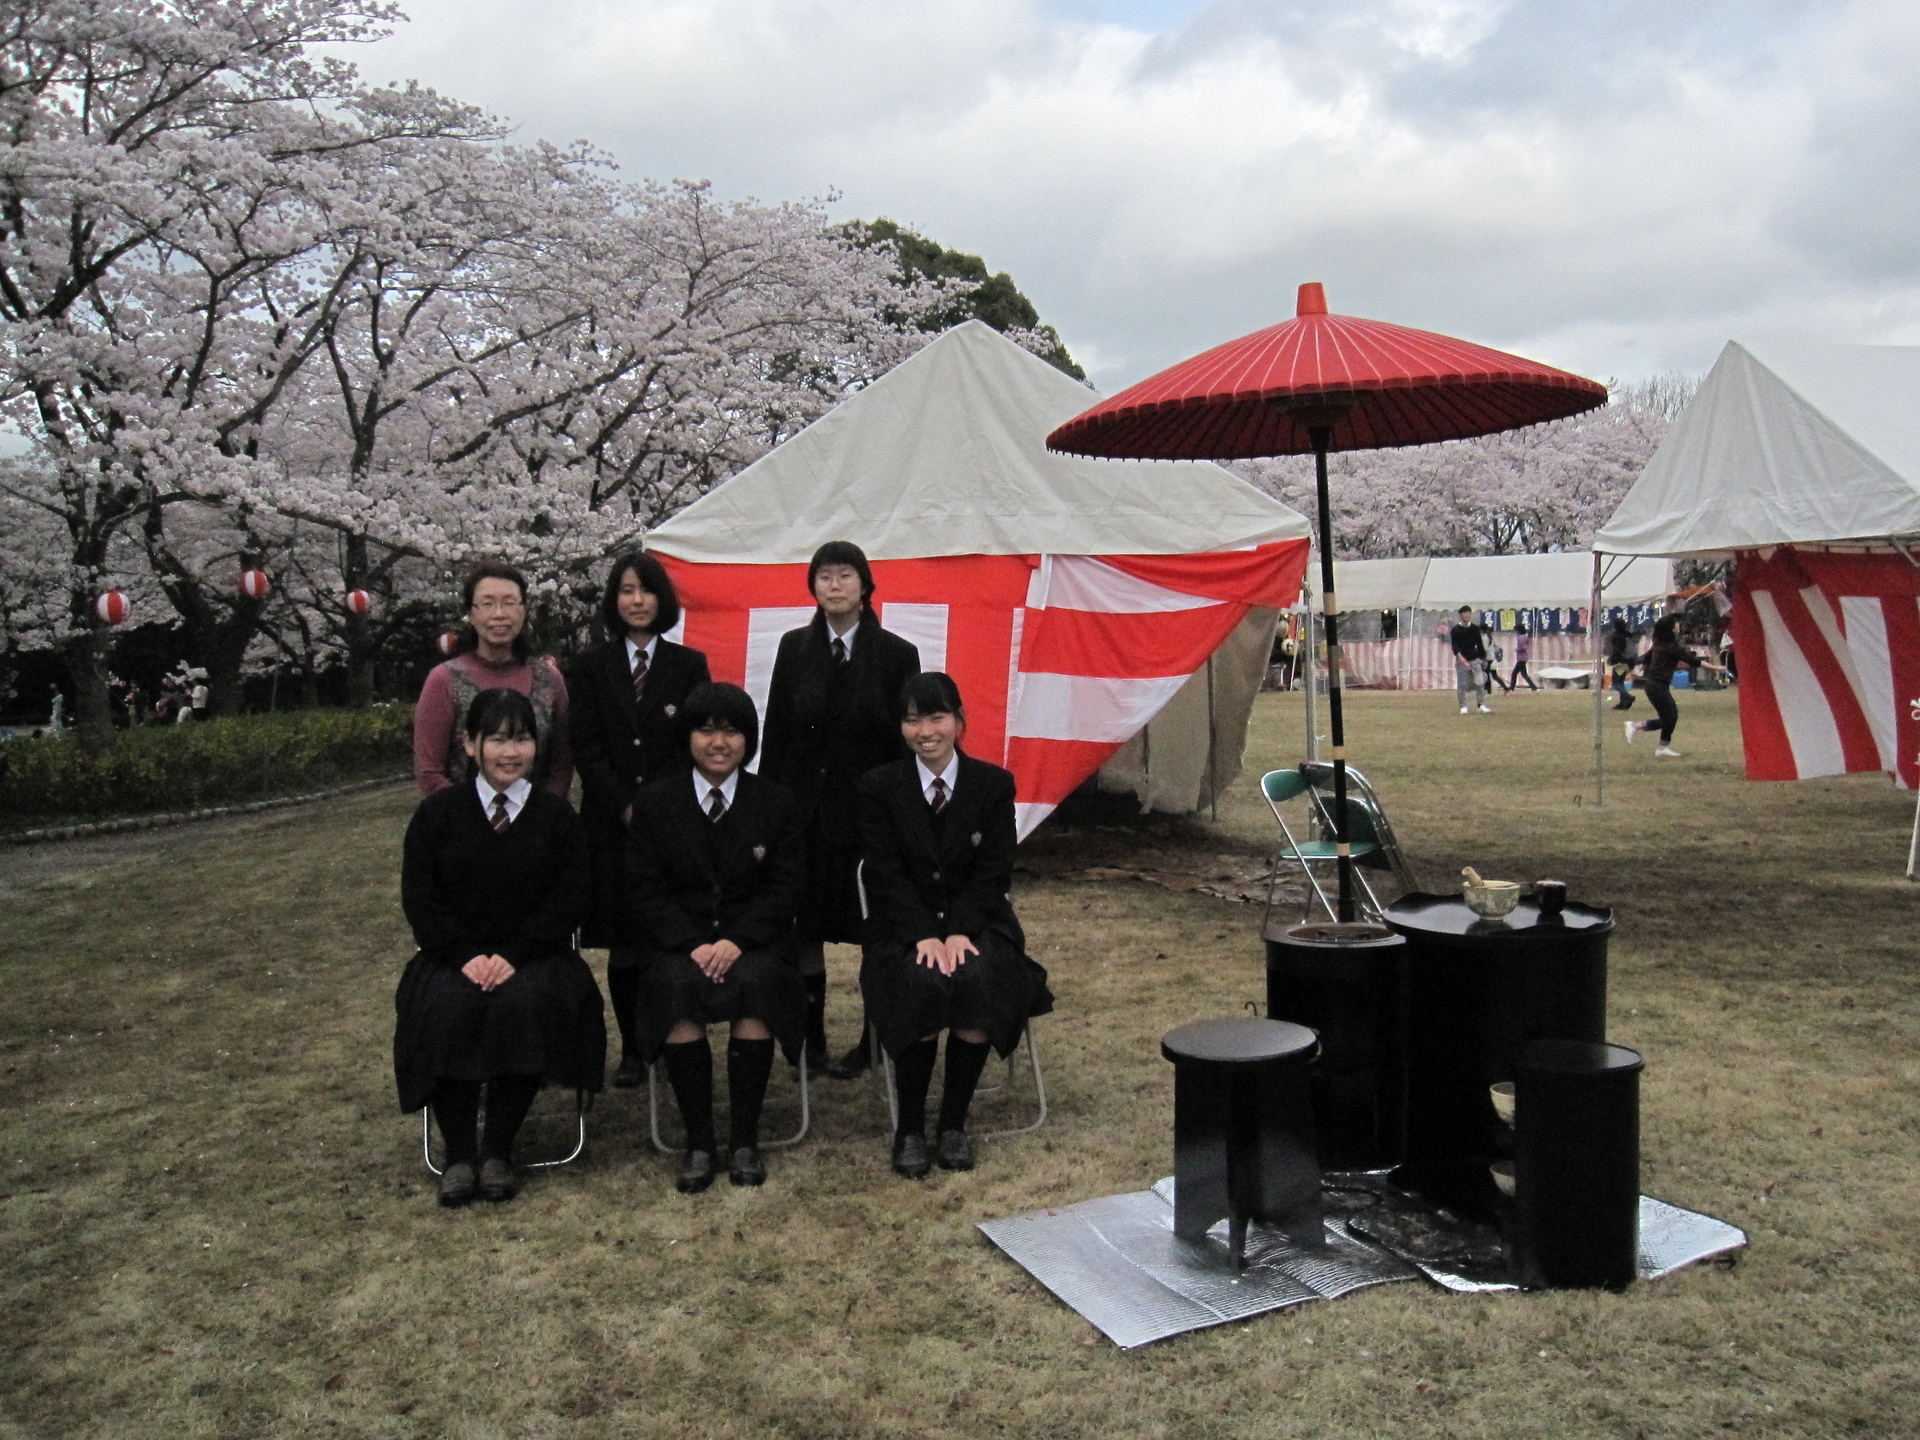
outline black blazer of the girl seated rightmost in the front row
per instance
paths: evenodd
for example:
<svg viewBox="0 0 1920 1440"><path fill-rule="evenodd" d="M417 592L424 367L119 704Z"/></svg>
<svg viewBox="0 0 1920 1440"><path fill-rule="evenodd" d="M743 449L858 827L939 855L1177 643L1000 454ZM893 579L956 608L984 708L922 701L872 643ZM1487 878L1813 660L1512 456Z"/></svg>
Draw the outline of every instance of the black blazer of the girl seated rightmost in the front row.
<svg viewBox="0 0 1920 1440"><path fill-rule="evenodd" d="M1027 937L1006 899L1014 887L1014 778L960 756L952 799L935 818L920 766L897 760L860 778L860 858L866 862L868 943L916 945L1000 931Z"/></svg>

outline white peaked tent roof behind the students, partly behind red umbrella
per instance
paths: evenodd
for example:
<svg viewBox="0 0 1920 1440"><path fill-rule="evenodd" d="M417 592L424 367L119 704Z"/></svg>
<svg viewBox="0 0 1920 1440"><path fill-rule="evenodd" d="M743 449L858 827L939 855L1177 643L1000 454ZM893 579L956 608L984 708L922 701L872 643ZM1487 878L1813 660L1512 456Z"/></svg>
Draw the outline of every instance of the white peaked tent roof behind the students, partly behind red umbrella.
<svg viewBox="0 0 1920 1440"><path fill-rule="evenodd" d="M1204 461L1056 455L1091 392L979 321L960 324L647 534L718 564L1192 555L1304 540L1306 518Z"/></svg>

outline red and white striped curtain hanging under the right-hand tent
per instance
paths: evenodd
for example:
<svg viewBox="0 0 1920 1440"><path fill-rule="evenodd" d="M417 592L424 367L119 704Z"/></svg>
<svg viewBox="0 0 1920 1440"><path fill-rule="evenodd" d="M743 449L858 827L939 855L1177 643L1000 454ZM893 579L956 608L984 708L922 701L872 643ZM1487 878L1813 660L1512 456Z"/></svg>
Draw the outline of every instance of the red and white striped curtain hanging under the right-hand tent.
<svg viewBox="0 0 1920 1440"><path fill-rule="evenodd" d="M1741 551L1734 657L1747 780L1920 781L1920 570L1905 555Z"/></svg>

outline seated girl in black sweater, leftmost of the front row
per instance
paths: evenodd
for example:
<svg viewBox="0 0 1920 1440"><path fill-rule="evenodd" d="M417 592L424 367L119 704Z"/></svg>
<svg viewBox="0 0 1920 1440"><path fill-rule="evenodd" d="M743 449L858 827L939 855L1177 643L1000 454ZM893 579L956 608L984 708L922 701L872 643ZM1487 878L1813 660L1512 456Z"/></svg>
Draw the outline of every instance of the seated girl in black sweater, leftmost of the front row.
<svg viewBox="0 0 1920 1440"><path fill-rule="evenodd" d="M394 996L399 1108L430 1104L440 1121L444 1206L511 1200L513 1140L541 1083L597 1091L607 1066L601 993L572 948L586 839L566 801L528 783L534 707L482 691L465 735L467 783L407 826L399 899L420 948Z"/></svg>

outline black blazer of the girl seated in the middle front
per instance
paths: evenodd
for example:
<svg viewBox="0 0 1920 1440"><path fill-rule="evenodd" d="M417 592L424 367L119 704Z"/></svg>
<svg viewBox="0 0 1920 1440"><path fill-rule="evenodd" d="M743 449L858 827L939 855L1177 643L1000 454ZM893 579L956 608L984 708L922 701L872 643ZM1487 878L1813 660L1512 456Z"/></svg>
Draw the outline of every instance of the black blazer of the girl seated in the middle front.
<svg viewBox="0 0 1920 1440"><path fill-rule="evenodd" d="M806 876L799 806L785 785L741 772L733 806L708 820L687 772L634 797L628 900L647 950L685 954L710 941L785 947Z"/></svg>

